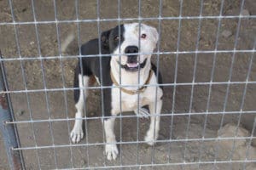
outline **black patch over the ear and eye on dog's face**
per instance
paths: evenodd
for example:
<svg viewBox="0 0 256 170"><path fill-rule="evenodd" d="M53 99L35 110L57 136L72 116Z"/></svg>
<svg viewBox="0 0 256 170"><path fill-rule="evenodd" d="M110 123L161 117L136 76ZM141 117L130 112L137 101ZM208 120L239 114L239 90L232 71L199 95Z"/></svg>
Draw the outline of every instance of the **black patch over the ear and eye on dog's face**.
<svg viewBox="0 0 256 170"><path fill-rule="evenodd" d="M124 26L120 25L114 27L111 30L102 32L102 48L108 49L109 53L112 54L113 51L119 47L119 44L121 44L124 41L124 31Z"/></svg>

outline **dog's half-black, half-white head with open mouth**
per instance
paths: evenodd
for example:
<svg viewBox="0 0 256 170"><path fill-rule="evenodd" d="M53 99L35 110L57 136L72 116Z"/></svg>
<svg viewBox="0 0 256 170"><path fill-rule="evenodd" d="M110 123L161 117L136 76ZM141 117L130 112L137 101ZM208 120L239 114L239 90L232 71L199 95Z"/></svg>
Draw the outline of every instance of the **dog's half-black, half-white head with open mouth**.
<svg viewBox="0 0 256 170"><path fill-rule="evenodd" d="M131 23L103 32L101 40L102 48L113 54L113 62L125 71L138 71L150 62L158 41L158 32L152 26Z"/></svg>

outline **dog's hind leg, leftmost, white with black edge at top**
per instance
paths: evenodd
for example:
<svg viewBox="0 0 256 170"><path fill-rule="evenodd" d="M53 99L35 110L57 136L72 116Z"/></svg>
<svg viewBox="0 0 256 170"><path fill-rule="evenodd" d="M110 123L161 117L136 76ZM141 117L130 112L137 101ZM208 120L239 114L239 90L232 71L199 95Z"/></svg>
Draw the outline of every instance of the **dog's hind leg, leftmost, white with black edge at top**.
<svg viewBox="0 0 256 170"><path fill-rule="evenodd" d="M84 81L84 83L83 83ZM70 133L70 138L73 143L78 143L81 139L84 138L84 132L83 132L83 120L84 117L84 99L86 98L87 92L86 88L89 85L90 77L84 76L82 77L81 74L78 75L77 78L75 78L74 82L74 88L79 88L74 90L74 96L75 96L75 102L76 102L76 109L77 113L75 116L75 123L73 126L73 130Z"/></svg>

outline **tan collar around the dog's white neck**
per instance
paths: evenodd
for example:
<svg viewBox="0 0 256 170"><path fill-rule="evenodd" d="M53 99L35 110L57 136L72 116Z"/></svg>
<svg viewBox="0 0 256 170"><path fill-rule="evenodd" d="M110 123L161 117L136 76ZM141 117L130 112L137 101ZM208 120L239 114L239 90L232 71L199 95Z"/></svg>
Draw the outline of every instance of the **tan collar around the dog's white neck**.
<svg viewBox="0 0 256 170"><path fill-rule="evenodd" d="M113 77L113 73L112 71L110 71L110 77L111 77L111 80L113 82L113 84L115 86L117 86L118 88L120 88L122 90L122 92L124 92L125 94L131 94L131 95L134 95L134 94L140 94L142 92L144 92L144 90L147 88L147 85L152 77L152 74L153 74L153 71L150 70L149 71L149 74L148 74L148 79L146 80L146 82L143 84L143 87L142 88L138 88L137 90L128 90L126 88L121 88L119 87L119 83L115 80L115 78Z"/></svg>

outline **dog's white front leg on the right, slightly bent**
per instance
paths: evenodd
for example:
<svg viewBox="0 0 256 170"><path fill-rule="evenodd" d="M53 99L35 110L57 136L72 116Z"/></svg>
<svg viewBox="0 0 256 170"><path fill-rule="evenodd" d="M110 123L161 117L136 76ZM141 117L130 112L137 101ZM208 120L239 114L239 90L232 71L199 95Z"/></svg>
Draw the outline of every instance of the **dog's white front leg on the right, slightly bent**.
<svg viewBox="0 0 256 170"><path fill-rule="evenodd" d="M162 108L162 100L159 99L156 101L156 105L154 102L149 104L149 111L150 111L150 125L145 136L145 141L149 145L153 145L154 141L158 138L158 133L160 129L160 111ZM157 115L157 116L156 116Z"/></svg>

